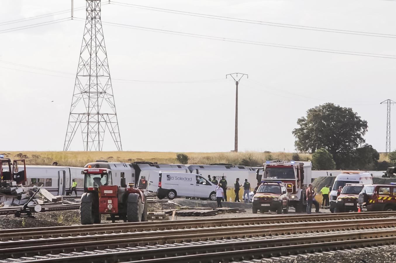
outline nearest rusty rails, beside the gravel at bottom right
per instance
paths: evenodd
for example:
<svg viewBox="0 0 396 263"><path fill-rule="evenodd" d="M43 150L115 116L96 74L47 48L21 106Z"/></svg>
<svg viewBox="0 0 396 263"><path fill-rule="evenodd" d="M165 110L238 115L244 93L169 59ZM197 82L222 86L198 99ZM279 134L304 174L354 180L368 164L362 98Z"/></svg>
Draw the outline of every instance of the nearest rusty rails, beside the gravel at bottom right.
<svg viewBox="0 0 396 263"><path fill-rule="evenodd" d="M152 248L145 250L116 251L108 253L85 254L70 257L55 257L51 259L31 260L25 262L214 262L235 261L241 257L263 258L281 253L308 253L329 247L340 249L350 246L367 244L394 244L396 229L359 231L315 236L299 236L289 238L258 239L235 242L219 242L214 244L199 244L195 246L174 246L167 248ZM253 252L253 253L251 253ZM257 252L260 252L257 255ZM212 254L212 257L209 255ZM180 255L184 255L180 257ZM256 257L257 256L257 257ZM210 259L210 260L209 260Z"/></svg>

